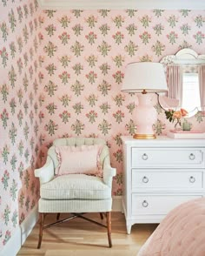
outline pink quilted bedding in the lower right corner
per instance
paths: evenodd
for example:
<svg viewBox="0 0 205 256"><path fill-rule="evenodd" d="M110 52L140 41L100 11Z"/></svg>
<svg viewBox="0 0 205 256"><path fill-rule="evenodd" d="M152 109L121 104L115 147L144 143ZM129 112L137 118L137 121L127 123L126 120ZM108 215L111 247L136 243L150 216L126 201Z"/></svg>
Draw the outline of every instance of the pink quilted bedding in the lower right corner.
<svg viewBox="0 0 205 256"><path fill-rule="evenodd" d="M137 255L205 256L205 198L169 212Z"/></svg>

